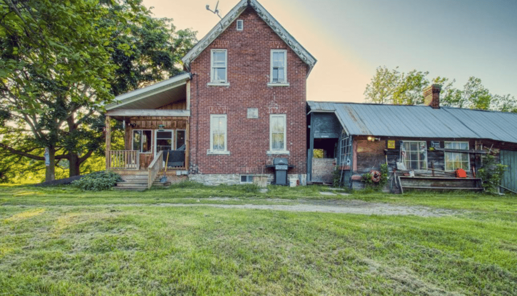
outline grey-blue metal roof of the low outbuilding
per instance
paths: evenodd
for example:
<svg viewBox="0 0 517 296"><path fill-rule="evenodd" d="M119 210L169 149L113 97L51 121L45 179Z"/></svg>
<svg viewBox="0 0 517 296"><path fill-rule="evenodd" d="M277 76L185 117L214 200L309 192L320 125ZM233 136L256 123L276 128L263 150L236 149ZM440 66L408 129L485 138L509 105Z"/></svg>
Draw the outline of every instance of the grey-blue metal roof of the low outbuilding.
<svg viewBox="0 0 517 296"><path fill-rule="evenodd" d="M454 107L307 101L312 112L336 114L350 135L483 138L517 143L517 114Z"/></svg>

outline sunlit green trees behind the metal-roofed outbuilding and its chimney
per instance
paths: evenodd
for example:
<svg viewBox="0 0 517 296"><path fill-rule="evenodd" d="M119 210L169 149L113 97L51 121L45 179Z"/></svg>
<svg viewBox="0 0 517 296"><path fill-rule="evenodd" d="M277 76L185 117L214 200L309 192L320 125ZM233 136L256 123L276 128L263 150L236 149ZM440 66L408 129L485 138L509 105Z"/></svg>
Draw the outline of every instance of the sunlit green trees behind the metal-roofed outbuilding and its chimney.
<svg viewBox="0 0 517 296"><path fill-rule="evenodd" d="M440 105L517 112L517 100L513 96L491 94L477 77L469 77L463 89L458 89L454 87L455 80L439 76L429 80L428 74L417 70L404 73L398 67L392 70L378 67L364 90L365 100L377 104L422 104L422 90L430 84L440 84Z"/></svg>

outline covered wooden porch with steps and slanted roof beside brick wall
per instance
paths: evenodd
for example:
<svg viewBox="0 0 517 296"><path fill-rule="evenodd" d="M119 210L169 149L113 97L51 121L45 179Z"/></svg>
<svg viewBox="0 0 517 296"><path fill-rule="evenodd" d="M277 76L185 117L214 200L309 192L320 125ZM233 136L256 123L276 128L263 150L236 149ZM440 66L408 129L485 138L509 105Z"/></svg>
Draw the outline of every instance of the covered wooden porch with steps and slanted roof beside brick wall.
<svg viewBox="0 0 517 296"><path fill-rule="evenodd" d="M116 97L106 106L106 169L126 182L150 188L162 177L186 177L189 166L190 75ZM122 123L123 134L112 138L112 121ZM115 149L112 149L112 145ZM145 179L145 180L144 180ZM124 184L127 185L127 184Z"/></svg>

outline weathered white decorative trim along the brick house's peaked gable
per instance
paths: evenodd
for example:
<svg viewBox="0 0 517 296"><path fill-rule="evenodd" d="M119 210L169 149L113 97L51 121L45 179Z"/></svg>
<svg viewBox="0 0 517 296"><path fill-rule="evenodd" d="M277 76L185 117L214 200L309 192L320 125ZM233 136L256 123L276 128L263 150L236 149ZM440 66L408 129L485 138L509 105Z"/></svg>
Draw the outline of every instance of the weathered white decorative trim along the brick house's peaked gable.
<svg viewBox="0 0 517 296"><path fill-rule="evenodd" d="M219 37L238 17L239 15L251 6L258 17L260 17L272 30L275 32L297 55L307 64L309 70L307 75L311 72L316 64L316 59L301 46L296 39L287 32L287 30L280 25L280 23L272 17L272 15L256 0L241 0L230 12L228 12L219 23L208 32L196 45L183 57L181 61L187 69L190 69L190 62L198 57L214 40Z"/></svg>

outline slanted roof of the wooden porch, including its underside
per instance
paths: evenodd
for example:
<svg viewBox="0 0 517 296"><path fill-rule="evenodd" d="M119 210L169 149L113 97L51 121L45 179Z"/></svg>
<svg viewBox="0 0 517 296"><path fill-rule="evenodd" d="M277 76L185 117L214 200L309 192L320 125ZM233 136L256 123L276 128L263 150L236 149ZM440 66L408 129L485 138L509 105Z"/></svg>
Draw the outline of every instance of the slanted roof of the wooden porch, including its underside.
<svg viewBox="0 0 517 296"><path fill-rule="evenodd" d="M106 110L154 110L187 98L189 73L182 73L168 80L136 89L115 97L115 102L105 106Z"/></svg>

